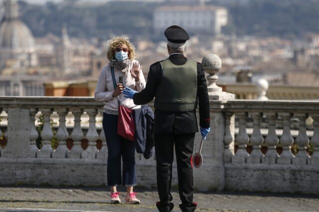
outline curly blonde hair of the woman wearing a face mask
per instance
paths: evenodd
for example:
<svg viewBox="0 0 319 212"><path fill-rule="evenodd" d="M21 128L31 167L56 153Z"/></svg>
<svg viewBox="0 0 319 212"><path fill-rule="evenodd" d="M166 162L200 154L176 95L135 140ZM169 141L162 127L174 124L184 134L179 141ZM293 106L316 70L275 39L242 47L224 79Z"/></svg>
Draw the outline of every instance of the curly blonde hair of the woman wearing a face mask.
<svg viewBox="0 0 319 212"><path fill-rule="evenodd" d="M134 60L135 59L135 47L134 45L130 42L128 37L121 36L121 37L114 37L108 42L108 53L107 53L107 58L109 61L112 61L112 58L115 56L115 48L122 46L123 44L126 44L129 49L129 60Z"/></svg>

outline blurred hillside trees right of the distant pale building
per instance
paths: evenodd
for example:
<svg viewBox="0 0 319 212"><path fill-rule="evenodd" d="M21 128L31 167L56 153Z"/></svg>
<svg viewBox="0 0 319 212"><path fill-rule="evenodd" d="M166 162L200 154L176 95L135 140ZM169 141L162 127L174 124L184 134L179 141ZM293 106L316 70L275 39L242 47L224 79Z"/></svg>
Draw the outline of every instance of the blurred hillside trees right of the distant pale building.
<svg viewBox="0 0 319 212"><path fill-rule="evenodd" d="M319 32L318 0L234 0L226 6L232 26L227 30L237 35L296 38Z"/></svg>

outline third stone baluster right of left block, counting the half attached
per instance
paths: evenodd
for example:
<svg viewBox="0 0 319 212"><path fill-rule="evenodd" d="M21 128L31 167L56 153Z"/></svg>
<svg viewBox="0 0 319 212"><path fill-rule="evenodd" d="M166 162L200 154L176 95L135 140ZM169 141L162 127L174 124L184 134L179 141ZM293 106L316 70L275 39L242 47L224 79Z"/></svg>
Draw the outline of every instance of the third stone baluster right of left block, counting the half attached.
<svg viewBox="0 0 319 212"><path fill-rule="evenodd" d="M65 116L68 114L68 109L58 108L56 112L59 115L59 128L56 132L56 138L59 141L59 145L56 150L52 153L52 158L66 158L68 153L68 148L66 147L66 139L69 137L69 133L65 125Z"/></svg>

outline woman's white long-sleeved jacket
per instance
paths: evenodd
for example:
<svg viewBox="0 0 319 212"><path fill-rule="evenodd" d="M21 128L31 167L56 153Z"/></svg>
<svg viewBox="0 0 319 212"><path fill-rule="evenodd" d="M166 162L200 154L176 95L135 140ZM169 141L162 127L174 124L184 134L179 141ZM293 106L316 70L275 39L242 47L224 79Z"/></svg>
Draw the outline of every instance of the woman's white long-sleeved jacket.
<svg viewBox="0 0 319 212"><path fill-rule="evenodd" d="M145 78L143 75L142 70L140 71L140 81L135 82L135 79L131 75L131 69L133 67L133 64L135 62L138 62L136 60L133 60L130 64L129 71L127 75L125 75L124 72L121 70L118 70L114 68L114 75L116 84L119 83L119 77L123 76L124 81L124 87L129 87L131 89L134 89L138 92L141 92L146 85ZM115 91L113 81L112 81L112 74L111 74L111 67L105 66L103 67L99 80L96 84L95 93L94 93L94 99L98 102L104 102L104 112L109 114L118 114L119 110L119 104L118 104L118 97L113 98L113 92ZM141 106L134 105L134 102L132 99L125 98L124 94L119 95L120 104L123 106L127 106L132 109L140 108Z"/></svg>

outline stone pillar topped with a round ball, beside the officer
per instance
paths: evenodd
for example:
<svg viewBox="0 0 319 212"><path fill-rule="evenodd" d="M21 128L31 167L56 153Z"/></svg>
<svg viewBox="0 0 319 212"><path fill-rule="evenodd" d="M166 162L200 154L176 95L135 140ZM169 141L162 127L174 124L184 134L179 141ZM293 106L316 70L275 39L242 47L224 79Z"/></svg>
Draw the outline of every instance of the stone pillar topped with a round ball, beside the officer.
<svg viewBox="0 0 319 212"><path fill-rule="evenodd" d="M235 99L235 95L222 92L222 89L216 85L218 77L215 75L221 69L221 60L217 55L209 54L202 60L202 67L206 73L208 81L209 100L227 101ZM221 107L210 102L210 133L208 134L204 147L203 165L199 169L194 170L194 187L201 190L221 191L225 186L225 169L223 162L223 154L225 151L224 135L225 135L225 115L219 110ZM214 108L216 110L214 111ZM218 108L217 108L218 107ZM233 118L231 120L234 120ZM234 137L234 124L232 129L227 130L228 137ZM200 134L199 134L200 135ZM233 150L234 142L227 143L227 149ZM205 149L206 147L206 149ZM208 149L209 148L209 149ZM197 151L194 149L194 151ZM199 180L200 179L200 180Z"/></svg>

